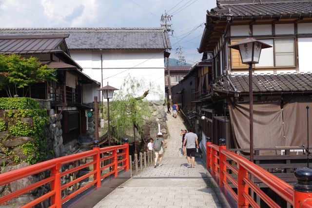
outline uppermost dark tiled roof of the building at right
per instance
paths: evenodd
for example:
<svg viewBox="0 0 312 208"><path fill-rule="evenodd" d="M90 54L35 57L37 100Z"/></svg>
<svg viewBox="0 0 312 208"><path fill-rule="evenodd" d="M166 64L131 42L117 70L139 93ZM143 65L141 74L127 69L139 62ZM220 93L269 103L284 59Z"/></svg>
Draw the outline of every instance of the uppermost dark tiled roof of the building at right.
<svg viewBox="0 0 312 208"><path fill-rule="evenodd" d="M254 3L253 3L254 2ZM261 3L262 2L262 3ZM311 0L219 0L208 14L219 17L311 16Z"/></svg>

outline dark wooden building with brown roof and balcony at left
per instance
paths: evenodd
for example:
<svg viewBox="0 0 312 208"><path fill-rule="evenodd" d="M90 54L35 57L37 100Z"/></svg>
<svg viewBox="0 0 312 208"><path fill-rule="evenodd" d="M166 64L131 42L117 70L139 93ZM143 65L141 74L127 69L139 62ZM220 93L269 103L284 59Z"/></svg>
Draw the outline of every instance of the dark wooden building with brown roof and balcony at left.
<svg viewBox="0 0 312 208"><path fill-rule="evenodd" d="M83 90L88 86L99 86L82 72L67 49L65 38L68 35L30 35L0 36L0 51L4 54L20 54L23 58L37 57L47 70L56 69L57 81L35 83L30 86L27 97L51 101L51 108L62 114L63 143L78 139L88 129L87 105L92 100L85 100ZM88 92L85 92L88 93ZM89 93L92 93L92 88ZM5 93L1 93L5 96Z"/></svg>

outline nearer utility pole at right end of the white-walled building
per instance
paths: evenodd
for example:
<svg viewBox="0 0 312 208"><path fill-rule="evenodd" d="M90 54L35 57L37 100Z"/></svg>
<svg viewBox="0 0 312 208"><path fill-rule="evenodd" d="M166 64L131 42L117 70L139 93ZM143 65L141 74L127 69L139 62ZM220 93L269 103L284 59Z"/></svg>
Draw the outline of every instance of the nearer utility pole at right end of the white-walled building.
<svg viewBox="0 0 312 208"><path fill-rule="evenodd" d="M164 31L171 32L171 35L173 35L173 29L172 29L172 24L171 24L171 17L172 15L168 15L166 10L165 14L161 15L160 18L160 25L161 28ZM168 102L170 103L170 106L172 106L172 99L171 99L171 79L170 79L170 68L169 68L169 56L170 53L168 50L165 51L164 53L165 57L167 58L167 73L168 73Z"/></svg>

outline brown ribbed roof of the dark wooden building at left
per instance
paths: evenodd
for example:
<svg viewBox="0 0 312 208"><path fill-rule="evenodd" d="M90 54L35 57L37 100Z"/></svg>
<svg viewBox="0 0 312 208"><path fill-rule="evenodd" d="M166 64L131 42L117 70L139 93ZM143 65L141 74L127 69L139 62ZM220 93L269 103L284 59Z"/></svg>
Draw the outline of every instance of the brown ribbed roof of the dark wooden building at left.
<svg viewBox="0 0 312 208"><path fill-rule="evenodd" d="M2 36L0 53L38 54L63 52L59 44L68 36Z"/></svg>

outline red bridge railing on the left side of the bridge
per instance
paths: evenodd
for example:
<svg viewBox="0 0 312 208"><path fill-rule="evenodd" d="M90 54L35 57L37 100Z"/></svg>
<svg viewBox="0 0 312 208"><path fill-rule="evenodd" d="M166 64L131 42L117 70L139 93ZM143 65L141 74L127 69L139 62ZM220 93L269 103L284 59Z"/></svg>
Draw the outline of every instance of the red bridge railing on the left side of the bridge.
<svg viewBox="0 0 312 208"><path fill-rule="evenodd" d="M104 148L99 148L98 141L95 141L92 150L81 152L78 154L72 154L64 157L55 158L42 163L38 163L31 166L26 166L17 170L9 171L0 174L0 186L9 184L13 181L17 181L28 176L32 176L41 173L46 170L50 170L50 176L34 183L30 186L23 187L12 193L0 197L0 205L7 202L10 199L18 197L26 192L29 192L35 188L41 187L43 185L50 184L50 191L35 199L34 201L26 204L23 208L31 208L40 202L43 202L50 198L51 206L50 208L61 208L61 205L66 201L75 197L78 193L84 191L85 189L96 186L101 186L101 180L114 175L118 175L118 171L121 169L129 170L129 144L124 144L120 146L109 146ZM79 165L68 169L64 172L60 172L60 168L63 165L70 164L81 159L86 159L92 157L91 162L87 162L83 165ZM77 172L78 170L84 169L86 167L93 166L93 170L88 173L78 177L77 179L70 181L66 184L61 184L61 178ZM107 173L105 173L105 171ZM87 179L93 175L93 180L83 187L78 187L75 191L67 196L62 196L62 190L72 187L77 183Z"/></svg>

